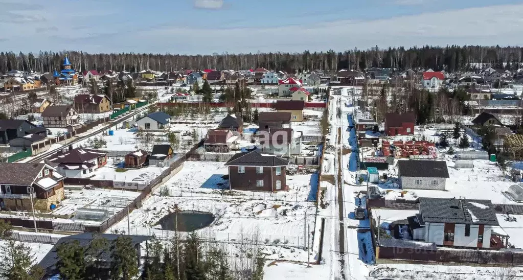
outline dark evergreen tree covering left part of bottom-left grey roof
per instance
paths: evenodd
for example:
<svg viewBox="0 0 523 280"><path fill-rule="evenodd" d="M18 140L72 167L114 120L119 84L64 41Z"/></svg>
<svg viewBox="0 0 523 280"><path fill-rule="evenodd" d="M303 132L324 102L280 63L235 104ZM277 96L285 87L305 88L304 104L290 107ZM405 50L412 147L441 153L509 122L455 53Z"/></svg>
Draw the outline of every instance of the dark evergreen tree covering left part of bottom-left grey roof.
<svg viewBox="0 0 523 280"><path fill-rule="evenodd" d="M80 280L85 277L84 248L78 240L64 242L56 248L58 262L56 268L60 276L67 280Z"/></svg>

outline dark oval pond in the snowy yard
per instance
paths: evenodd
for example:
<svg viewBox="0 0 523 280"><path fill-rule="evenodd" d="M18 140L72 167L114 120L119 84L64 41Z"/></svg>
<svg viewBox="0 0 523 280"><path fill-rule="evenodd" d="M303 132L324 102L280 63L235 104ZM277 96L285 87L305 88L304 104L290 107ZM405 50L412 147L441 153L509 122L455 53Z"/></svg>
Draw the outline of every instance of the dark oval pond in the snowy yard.
<svg viewBox="0 0 523 280"><path fill-rule="evenodd" d="M214 216L208 212L184 211L178 213L178 230L194 231L207 227L214 221ZM176 230L176 213L170 213L158 223L164 230Z"/></svg>

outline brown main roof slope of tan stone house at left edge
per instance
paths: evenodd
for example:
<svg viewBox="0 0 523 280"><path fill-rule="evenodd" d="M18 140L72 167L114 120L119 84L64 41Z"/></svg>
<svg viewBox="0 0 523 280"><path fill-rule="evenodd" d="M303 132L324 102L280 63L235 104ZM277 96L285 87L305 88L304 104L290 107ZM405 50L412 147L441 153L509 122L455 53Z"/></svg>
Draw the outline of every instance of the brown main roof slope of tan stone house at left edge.
<svg viewBox="0 0 523 280"><path fill-rule="evenodd" d="M0 184L31 185L45 164L0 162Z"/></svg>

